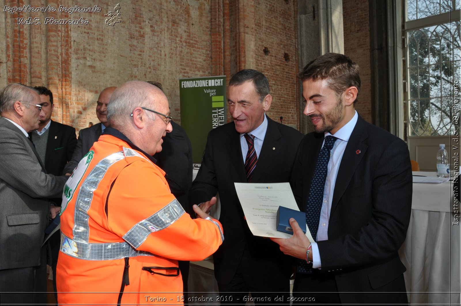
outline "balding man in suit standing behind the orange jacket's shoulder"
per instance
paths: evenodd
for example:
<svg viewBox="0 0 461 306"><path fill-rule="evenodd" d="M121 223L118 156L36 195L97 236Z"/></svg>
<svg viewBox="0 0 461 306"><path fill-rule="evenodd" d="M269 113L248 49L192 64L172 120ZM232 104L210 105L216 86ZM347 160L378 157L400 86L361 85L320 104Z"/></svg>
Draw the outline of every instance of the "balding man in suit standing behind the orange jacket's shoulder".
<svg viewBox="0 0 461 306"><path fill-rule="evenodd" d="M95 124L89 128L81 129L78 132L77 147L75 148L74 154L70 162L65 165L63 173L71 174L77 167L78 163L86 153L89 152L90 147L93 146L95 141L98 141L99 136L102 134L104 129L107 127L107 103L112 96L112 93L117 87L107 87L99 94L98 101L96 102L96 116L100 123Z"/></svg>

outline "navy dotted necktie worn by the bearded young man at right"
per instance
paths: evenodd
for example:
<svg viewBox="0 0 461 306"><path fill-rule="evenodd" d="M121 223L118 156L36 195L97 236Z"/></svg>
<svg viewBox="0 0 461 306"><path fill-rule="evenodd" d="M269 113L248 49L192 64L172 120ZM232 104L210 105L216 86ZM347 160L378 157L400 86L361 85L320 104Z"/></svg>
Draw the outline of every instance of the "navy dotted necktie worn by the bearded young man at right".
<svg viewBox="0 0 461 306"><path fill-rule="evenodd" d="M315 241L317 241L317 230L319 229L320 211L322 209L323 192L325 189L328 162L330 161L330 152L336 140L337 138L331 135L325 137L325 143L317 158L311 189L309 190L309 197L307 198L306 223ZM306 260L298 260L297 272L307 273L311 269L312 268L309 268L307 265Z"/></svg>

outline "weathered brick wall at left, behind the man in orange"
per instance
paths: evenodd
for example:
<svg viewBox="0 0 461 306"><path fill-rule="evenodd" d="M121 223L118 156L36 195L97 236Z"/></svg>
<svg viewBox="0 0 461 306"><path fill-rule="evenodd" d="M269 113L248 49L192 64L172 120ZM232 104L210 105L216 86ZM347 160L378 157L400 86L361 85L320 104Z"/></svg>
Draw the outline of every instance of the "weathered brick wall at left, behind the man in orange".
<svg viewBox="0 0 461 306"><path fill-rule="evenodd" d="M0 60L2 87L22 82L50 88L55 96L53 119L85 128L97 123L95 102L100 91L130 80L161 82L179 122L181 77L213 73L211 59L210 5L206 0L124 1L123 23L105 23L113 11L109 1L97 1L101 12L2 12L0 41L5 58ZM59 8L92 6L89 1L18 1L10 7L51 5ZM16 18L40 18L41 24L17 24ZM88 20L88 24L44 24L45 18Z"/></svg>

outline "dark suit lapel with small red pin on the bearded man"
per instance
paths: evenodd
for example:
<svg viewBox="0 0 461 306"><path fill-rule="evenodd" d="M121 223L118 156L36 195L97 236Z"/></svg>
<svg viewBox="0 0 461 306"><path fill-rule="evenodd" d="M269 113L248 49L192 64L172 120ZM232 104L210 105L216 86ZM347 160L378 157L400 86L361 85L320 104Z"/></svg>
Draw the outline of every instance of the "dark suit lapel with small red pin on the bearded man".
<svg viewBox="0 0 461 306"><path fill-rule="evenodd" d="M368 137L366 132L365 121L359 116L355 128L350 135L349 141L344 150L341 165L339 165L338 175L335 182L335 190L333 192L333 200L331 202L331 214L334 212L339 199L349 186L349 182L357 169L361 159L366 154L368 146L363 141Z"/></svg>

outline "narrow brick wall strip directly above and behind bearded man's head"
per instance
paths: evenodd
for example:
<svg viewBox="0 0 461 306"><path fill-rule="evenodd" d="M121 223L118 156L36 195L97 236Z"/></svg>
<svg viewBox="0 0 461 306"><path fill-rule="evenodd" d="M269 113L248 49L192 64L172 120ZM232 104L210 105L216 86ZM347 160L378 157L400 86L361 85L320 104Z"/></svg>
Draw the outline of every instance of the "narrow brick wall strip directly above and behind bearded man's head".
<svg viewBox="0 0 461 306"><path fill-rule="evenodd" d="M361 90L357 112L372 122L370 26L368 0L343 0L344 53L360 67Z"/></svg>

